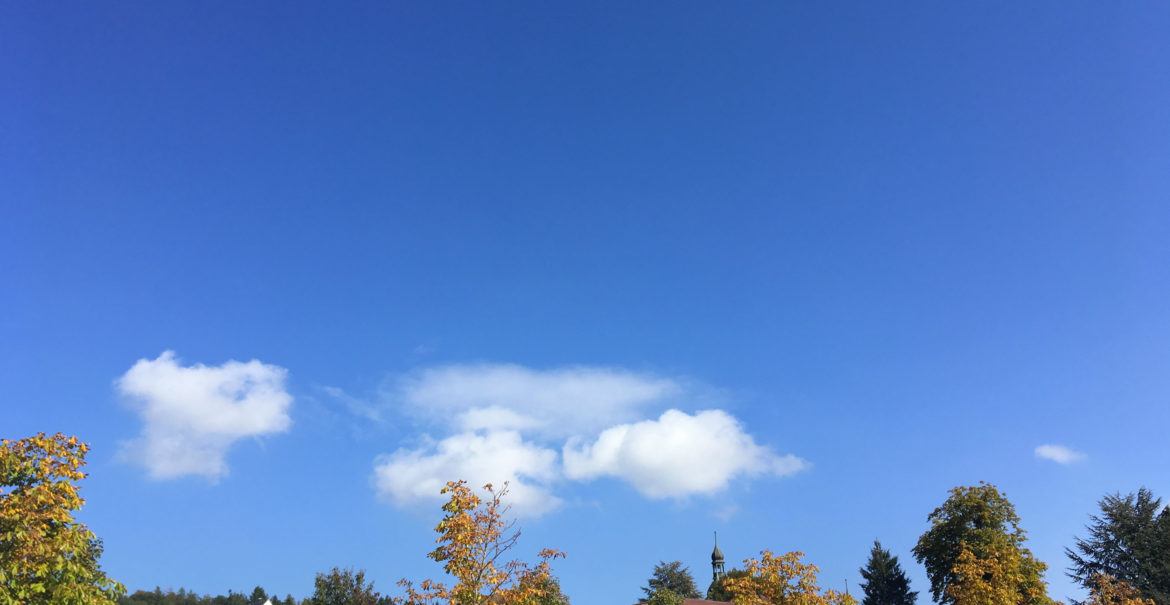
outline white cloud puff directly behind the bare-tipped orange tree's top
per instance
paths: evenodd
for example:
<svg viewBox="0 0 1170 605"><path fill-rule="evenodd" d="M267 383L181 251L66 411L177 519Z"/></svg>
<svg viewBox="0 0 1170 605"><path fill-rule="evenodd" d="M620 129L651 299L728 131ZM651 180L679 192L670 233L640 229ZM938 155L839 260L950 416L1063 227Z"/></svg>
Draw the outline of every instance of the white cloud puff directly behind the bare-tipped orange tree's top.
<svg viewBox="0 0 1170 605"><path fill-rule="evenodd" d="M509 484L511 513L536 516L557 508L548 483L558 476L557 453L524 441L515 431L467 432L419 449L399 449L374 467L379 495L397 506L441 501L447 481L467 480L474 488Z"/></svg>

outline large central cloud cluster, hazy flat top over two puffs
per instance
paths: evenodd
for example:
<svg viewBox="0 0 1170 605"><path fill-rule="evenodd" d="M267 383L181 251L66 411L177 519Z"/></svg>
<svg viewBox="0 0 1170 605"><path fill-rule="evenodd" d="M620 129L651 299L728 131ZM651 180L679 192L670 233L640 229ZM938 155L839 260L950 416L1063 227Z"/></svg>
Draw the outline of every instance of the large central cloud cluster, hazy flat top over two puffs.
<svg viewBox="0 0 1170 605"><path fill-rule="evenodd" d="M612 476L665 499L715 494L736 477L783 476L808 466L757 445L720 410L670 410L638 421L648 412L696 406L710 393L672 378L613 367L475 364L421 369L386 385L386 410L449 435L376 462L378 494L399 507L441 501L439 490L457 479L508 481L512 513L524 516L559 506L553 488L564 480Z"/></svg>

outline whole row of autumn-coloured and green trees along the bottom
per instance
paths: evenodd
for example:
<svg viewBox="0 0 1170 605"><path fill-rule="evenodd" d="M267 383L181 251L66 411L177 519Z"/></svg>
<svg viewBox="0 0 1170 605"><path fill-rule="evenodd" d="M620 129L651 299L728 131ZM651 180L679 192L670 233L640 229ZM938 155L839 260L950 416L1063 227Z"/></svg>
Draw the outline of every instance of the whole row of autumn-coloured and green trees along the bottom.
<svg viewBox="0 0 1170 605"><path fill-rule="evenodd" d="M448 481L435 549L427 554L443 569L441 579L397 583L400 596L383 596L365 571L333 568L318 572L307 599L268 594L256 586L247 597L198 594L180 587L138 590L101 569L102 539L73 513L84 500L77 481L89 445L57 433L0 440L0 603L13 605L569 605L552 563L565 554L545 548L534 563L503 555L519 537L502 518L508 486L486 484L483 496L466 481ZM1048 565L1025 545L1026 531L1014 506L994 486L959 486L927 515L928 529L913 549L940 605L1059 605L1048 594ZM1089 593L1073 605L1170 605L1170 507L1149 489L1104 496L1090 514L1086 537L1065 549L1066 575ZM483 556L476 554L486 554ZM676 562L677 563L677 562ZM818 568L804 554L763 550L713 583L708 598L752 605L858 605L848 593L821 589ZM861 569L861 605L913 605L897 558L875 542ZM686 582L675 582L674 577ZM686 568L662 563L642 589L648 605L679 605L700 597ZM715 599L713 599L715 600Z"/></svg>

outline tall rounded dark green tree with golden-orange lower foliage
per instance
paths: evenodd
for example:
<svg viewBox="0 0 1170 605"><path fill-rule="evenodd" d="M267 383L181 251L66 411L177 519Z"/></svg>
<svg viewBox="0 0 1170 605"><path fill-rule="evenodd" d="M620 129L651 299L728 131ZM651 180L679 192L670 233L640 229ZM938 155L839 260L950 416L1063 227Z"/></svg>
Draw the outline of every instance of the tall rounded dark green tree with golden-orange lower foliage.
<svg viewBox="0 0 1170 605"><path fill-rule="evenodd" d="M927 520L914 546L935 601L952 605L1048 605L1047 569L1024 548L1016 507L989 483L956 487Z"/></svg>

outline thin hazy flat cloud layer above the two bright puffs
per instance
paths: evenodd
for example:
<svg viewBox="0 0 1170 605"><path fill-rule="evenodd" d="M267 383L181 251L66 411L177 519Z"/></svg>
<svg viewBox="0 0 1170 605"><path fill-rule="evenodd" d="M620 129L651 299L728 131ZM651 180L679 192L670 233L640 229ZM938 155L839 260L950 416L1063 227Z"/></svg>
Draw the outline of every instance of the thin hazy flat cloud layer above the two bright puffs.
<svg viewBox="0 0 1170 605"><path fill-rule="evenodd" d="M636 418L649 404L683 393L667 378L610 367L532 370L511 364L447 365L393 384L391 398L467 428L567 436Z"/></svg>

